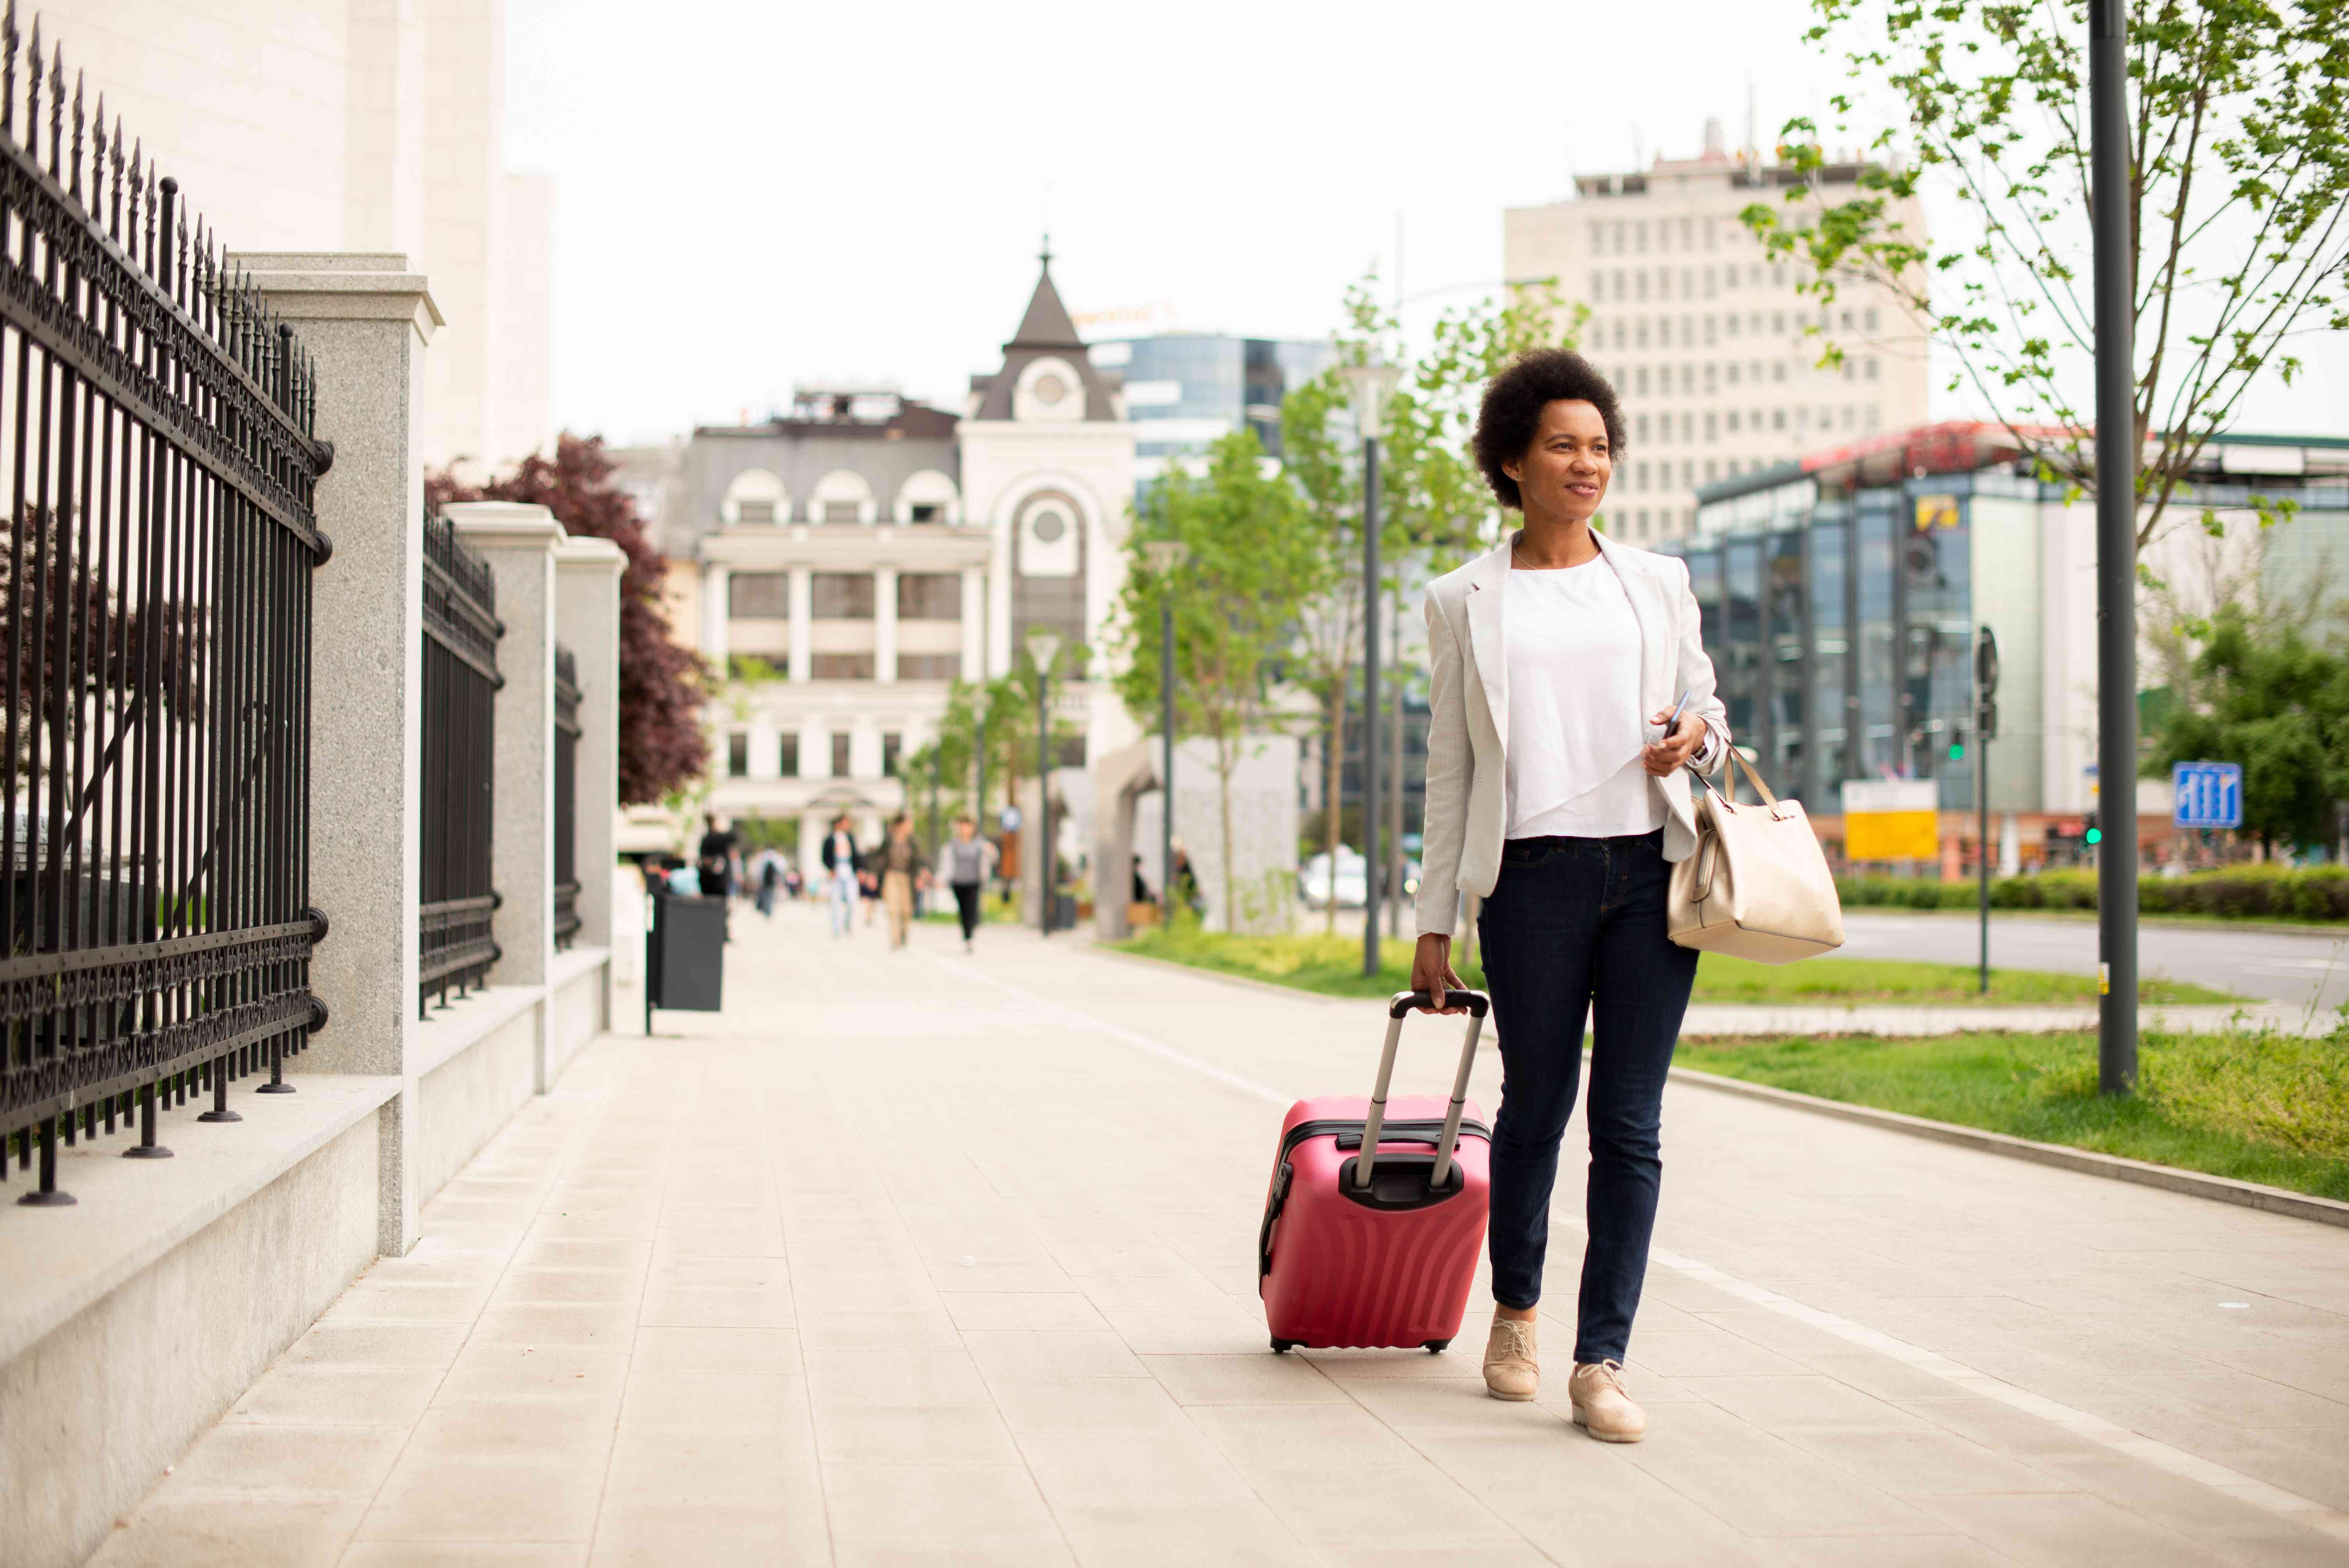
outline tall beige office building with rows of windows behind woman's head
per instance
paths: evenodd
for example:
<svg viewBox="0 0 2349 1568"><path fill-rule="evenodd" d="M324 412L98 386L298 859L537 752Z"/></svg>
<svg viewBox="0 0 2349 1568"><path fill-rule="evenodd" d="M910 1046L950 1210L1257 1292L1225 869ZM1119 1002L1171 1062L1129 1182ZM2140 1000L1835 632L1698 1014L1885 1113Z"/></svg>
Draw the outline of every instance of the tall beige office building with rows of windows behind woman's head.
<svg viewBox="0 0 2349 1568"><path fill-rule="evenodd" d="M1863 169L1828 164L1811 176L1811 202L1849 200ZM1555 277L1567 300L1590 305L1583 354L1623 399L1607 505L1618 538L1680 538L1696 526L1698 486L1926 420L1926 333L1898 300L1849 284L1823 317L1795 291L1799 272L1769 261L1738 221L1792 183L1785 162L1727 153L1722 122L1708 120L1698 157L1583 174L1574 200L1506 214L1508 277ZM1924 239L1919 202L1891 216ZM1844 347L1839 369L1818 369L1823 338L1809 326Z"/></svg>

